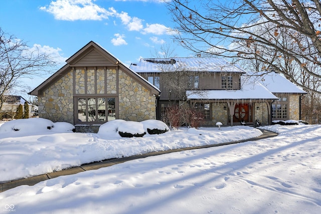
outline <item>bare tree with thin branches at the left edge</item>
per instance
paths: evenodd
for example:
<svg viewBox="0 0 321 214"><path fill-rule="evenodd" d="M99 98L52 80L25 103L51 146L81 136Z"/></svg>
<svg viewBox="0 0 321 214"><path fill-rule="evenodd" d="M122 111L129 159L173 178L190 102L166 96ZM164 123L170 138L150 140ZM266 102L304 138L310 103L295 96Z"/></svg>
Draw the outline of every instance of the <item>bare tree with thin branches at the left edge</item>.
<svg viewBox="0 0 321 214"><path fill-rule="evenodd" d="M47 74L56 63L50 55L27 44L0 28L0 109L9 90L22 78L32 79Z"/></svg>

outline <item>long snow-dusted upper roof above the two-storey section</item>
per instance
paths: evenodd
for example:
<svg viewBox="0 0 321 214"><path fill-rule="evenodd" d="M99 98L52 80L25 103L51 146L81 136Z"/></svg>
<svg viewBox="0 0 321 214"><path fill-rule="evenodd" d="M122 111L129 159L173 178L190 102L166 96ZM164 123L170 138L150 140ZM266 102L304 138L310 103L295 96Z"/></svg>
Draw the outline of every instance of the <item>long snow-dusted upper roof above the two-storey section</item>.
<svg viewBox="0 0 321 214"><path fill-rule="evenodd" d="M217 58L169 58L169 59L140 59L139 63L132 63L129 68L137 73L153 73L175 71L206 72L235 72L246 73L243 69L230 64L224 59Z"/></svg>

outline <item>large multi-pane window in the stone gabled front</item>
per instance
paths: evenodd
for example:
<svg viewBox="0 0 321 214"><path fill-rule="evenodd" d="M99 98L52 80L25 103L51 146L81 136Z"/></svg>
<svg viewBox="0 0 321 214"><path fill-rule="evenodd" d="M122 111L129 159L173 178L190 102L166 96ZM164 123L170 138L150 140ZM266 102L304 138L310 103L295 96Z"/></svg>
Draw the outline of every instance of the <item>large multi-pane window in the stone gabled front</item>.
<svg viewBox="0 0 321 214"><path fill-rule="evenodd" d="M104 123L114 120L115 115L115 98L109 97L90 97L77 98L78 122L97 122Z"/></svg>

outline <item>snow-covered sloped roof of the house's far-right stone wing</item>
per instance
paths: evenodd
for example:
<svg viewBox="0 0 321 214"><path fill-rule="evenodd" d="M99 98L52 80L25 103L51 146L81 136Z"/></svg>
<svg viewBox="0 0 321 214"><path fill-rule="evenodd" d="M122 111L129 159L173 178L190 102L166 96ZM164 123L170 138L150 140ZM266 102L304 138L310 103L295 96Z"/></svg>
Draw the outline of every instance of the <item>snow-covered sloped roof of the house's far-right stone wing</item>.
<svg viewBox="0 0 321 214"><path fill-rule="evenodd" d="M258 77L257 77L258 78ZM262 75L258 81L272 93L300 93L306 94L301 88L287 80L282 75L270 72Z"/></svg>

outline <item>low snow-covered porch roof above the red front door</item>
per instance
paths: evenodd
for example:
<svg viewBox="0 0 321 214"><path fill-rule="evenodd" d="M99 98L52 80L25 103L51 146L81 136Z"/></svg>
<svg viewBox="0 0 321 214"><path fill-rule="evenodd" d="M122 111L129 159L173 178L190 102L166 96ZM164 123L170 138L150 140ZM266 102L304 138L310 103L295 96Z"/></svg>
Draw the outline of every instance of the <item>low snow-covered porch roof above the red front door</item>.
<svg viewBox="0 0 321 214"><path fill-rule="evenodd" d="M204 90L204 91L187 91L188 99L216 99L216 100L244 100L244 99L275 99L267 88L253 78L241 76L241 89L239 90Z"/></svg>

